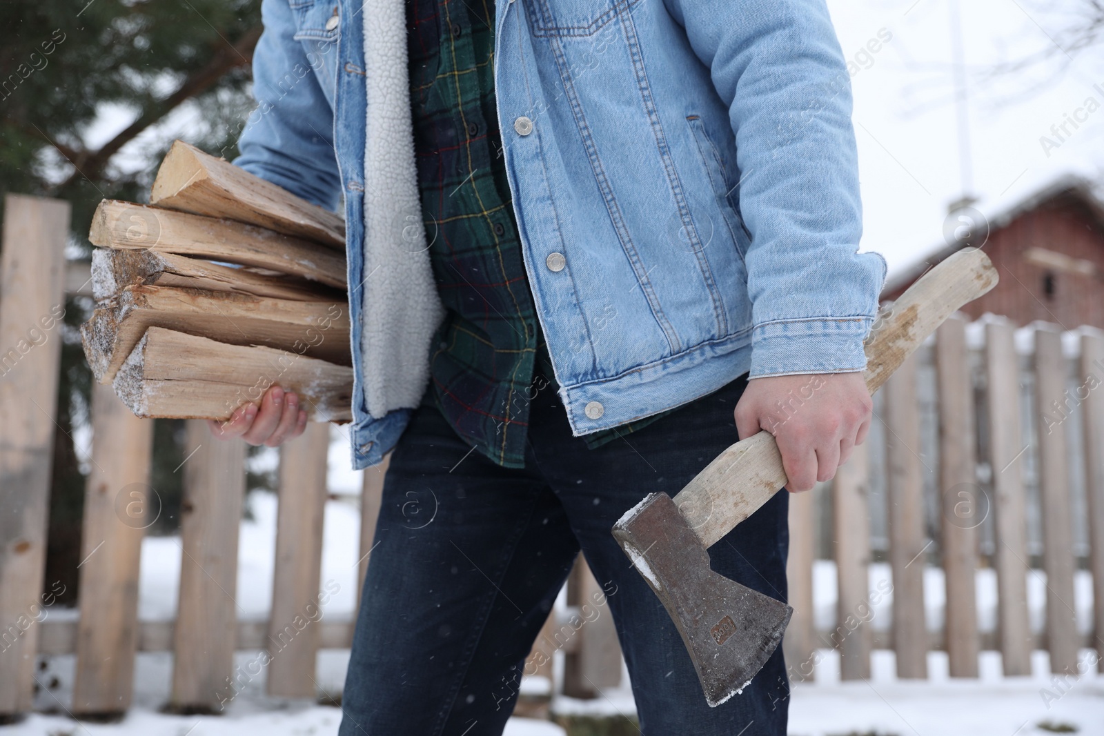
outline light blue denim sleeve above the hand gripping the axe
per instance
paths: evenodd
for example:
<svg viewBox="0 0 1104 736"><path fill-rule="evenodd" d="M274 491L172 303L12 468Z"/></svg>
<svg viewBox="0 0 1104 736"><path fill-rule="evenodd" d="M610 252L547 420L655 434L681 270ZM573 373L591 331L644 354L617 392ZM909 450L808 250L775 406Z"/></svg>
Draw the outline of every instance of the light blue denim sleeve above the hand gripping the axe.
<svg viewBox="0 0 1104 736"><path fill-rule="evenodd" d="M851 81L824 0L665 0L736 139L751 376L866 367L885 262L859 254Z"/></svg>

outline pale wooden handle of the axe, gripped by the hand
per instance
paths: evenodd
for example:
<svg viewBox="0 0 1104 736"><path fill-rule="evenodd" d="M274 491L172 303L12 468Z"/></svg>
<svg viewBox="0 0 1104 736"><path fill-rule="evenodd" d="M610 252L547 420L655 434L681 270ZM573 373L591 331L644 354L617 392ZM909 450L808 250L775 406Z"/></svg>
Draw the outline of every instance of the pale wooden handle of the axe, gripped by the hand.
<svg viewBox="0 0 1104 736"><path fill-rule="evenodd" d="M873 394L947 317L997 284L997 269L976 248L958 250L878 313L866 342L867 388ZM763 430L716 456L675 497L705 546L786 484L774 436ZM703 520L694 523L693 520Z"/></svg>

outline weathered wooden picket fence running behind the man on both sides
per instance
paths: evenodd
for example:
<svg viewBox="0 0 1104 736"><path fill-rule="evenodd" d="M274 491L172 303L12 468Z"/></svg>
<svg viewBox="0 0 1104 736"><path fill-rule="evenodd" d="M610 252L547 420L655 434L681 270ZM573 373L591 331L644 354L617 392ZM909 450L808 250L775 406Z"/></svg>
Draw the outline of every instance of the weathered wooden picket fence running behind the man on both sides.
<svg viewBox="0 0 1104 736"><path fill-rule="evenodd" d="M36 611L49 606L51 596L43 567L61 343L60 328L47 327L45 316L55 314L65 292L79 288L81 281L64 259L67 236L67 204L7 199L0 254L0 717L31 710L39 654L76 654L71 710L78 715L126 711L136 653L149 651L173 652L170 708L219 711L235 692L234 652L264 650L273 642L280 649L266 666L267 692L318 696L318 651L348 648L353 627L351 620L326 617L288 633L297 617L310 618L305 602L319 597L322 515L329 495L327 425L310 425L304 436L280 449L270 614L266 620L245 620L238 617L234 599L245 447L240 441L211 441L204 423L189 423L179 609L174 620L141 621L138 576L151 513L152 423L135 418L109 386L95 386L79 617L38 622ZM968 678L977 676L983 648L1001 652L1007 675L1029 673L1036 648L1050 652L1055 672L1076 670L1079 647L1102 648L1097 633L1104 636L1104 392L1097 386L1104 376L1104 338L1083 330L1078 339L1080 356L1071 360L1064 356L1062 333L1040 326L1033 330L1032 359L1017 351L1012 326L990 320L980 329L983 345L972 346L967 324L952 319L940 329L934 345L902 366L879 399L875 424L881 423L882 429L872 433L871 441L856 451L832 484L834 531L828 536L838 569L838 621L846 631L816 629L811 575L817 554L816 497L792 497L788 576L795 615L786 636L792 678L808 676L804 664L825 648L840 651L843 679L869 676L874 648L895 651L902 678L925 678L926 654L934 649L946 650L952 675ZM935 457L924 447L923 391L917 390L917 376L927 369L935 386ZM1030 378L1031 396L1021 388L1025 376ZM1070 422L1079 423L1081 444L1075 448L1066 431ZM1058 429L1048 431L1053 427ZM871 626L861 611L873 595L868 567L877 474L871 469L878 465L872 461L878 454L884 458L887 552L893 580L889 632ZM1029 458L1039 466L1041 557L1048 580L1042 637L1029 629L1027 608L1026 582L1032 572L1023 467ZM1095 595L1095 625L1089 637L1078 633L1072 612L1078 559L1071 531L1070 458L1083 465L1081 491ZM385 463L363 474L358 585L372 550L384 472ZM934 533L937 538L930 540L933 503L941 523ZM991 513L979 519L983 505L991 506ZM991 537L990 552L980 543L985 534ZM934 551L940 553L947 588L946 625L940 631L926 627L923 605L926 557ZM995 636L980 633L977 626L975 570L986 564L996 568L999 583ZM576 697L596 696L620 682L620 652L611 618L574 626L580 601L599 590L580 562L569 582L567 607L550 617L528 674L546 676L559 683L559 692ZM358 590L358 600L359 596ZM849 623L852 619L859 621L854 627ZM554 657L556 651L563 655ZM552 666L558 661L563 668L555 673Z"/></svg>

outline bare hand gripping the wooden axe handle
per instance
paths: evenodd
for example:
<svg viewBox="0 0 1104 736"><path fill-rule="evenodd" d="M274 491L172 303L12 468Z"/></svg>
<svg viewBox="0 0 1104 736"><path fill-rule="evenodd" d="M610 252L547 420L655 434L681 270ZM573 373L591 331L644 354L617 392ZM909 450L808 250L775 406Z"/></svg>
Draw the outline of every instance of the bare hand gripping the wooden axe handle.
<svg viewBox="0 0 1104 736"><path fill-rule="evenodd" d="M752 378L736 403L741 439L774 435L790 491L831 480L870 429L873 402L862 373Z"/></svg>

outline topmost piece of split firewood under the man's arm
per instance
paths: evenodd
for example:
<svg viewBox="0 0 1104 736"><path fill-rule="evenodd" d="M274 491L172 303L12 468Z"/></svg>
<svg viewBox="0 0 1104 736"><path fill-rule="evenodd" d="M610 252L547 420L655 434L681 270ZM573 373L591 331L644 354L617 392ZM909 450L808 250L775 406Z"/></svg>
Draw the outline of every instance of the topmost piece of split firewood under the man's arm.
<svg viewBox="0 0 1104 736"><path fill-rule="evenodd" d="M150 203L346 247L344 221L337 214L180 140L161 161Z"/></svg>

